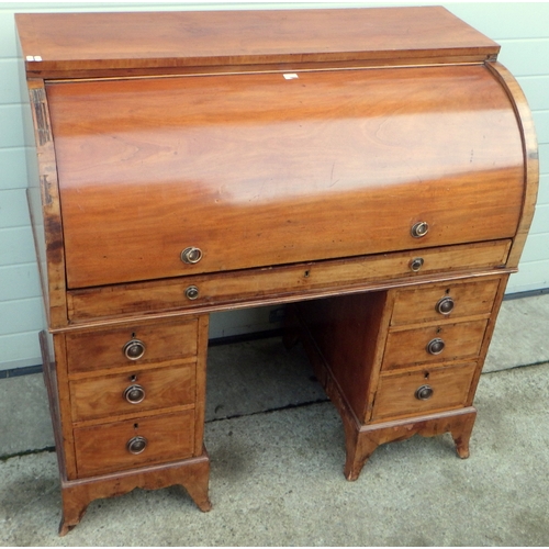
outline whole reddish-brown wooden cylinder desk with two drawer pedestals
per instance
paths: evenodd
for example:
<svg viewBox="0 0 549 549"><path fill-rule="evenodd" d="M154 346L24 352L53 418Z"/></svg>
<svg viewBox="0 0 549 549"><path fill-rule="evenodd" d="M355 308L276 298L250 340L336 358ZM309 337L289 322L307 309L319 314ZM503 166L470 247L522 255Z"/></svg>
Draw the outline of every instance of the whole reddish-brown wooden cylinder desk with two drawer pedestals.
<svg viewBox="0 0 549 549"><path fill-rule="evenodd" d="M288 303L377 446L473 396L538 178L500 47L442 8L18 14L60 534L97 497L210 508L209 313Z"/></svg>

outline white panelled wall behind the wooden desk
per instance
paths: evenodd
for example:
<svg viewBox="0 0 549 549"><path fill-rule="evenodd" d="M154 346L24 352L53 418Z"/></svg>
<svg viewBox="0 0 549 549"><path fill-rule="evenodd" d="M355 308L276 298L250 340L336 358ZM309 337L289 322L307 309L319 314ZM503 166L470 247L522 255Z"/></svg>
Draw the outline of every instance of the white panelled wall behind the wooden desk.
<svg viewBox="0 0 549 549"><path fill-rule="evenodd" d="M407 4L441 2L408 2ZM42 303L26 211L26 172L16 38L20 11L130 11L397 5L372 2L0 2L0 371L41 362ZM537 212L507 293L549 287L549 3L442 3L502 45L500 60L522 85L538 132L541 182ZM213 315L211 336L272 327L269 310Z"/></svg>

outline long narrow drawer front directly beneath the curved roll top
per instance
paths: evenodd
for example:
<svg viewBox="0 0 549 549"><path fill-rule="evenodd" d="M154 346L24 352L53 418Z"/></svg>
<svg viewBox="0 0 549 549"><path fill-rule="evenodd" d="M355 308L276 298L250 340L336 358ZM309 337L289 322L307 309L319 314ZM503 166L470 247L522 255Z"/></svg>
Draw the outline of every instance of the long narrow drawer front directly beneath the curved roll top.
<svg viewBox="0 0 549 549"><path fill-rule="evenodd" d="M413 281L436 272L452 272L467 265L469 270L492 270L505 265L509 240L479 243L415 251L383 254L345 260L302 264L271 269L183 277L161 282L120 284L105 289L68 292L72 322L112 317L124 313L166 310L210 310L246 302L265 304L292 296L325 295L362 288L376 288L390 280ZM422 258L417 272L414 258ZM187 296L194 288L194 299ZM444 287L440 291L446 291ZM438 300L439 292L436 292ZM436 302L433 304L435 306ZM430 304L427 309L430 309Z"/></svg>

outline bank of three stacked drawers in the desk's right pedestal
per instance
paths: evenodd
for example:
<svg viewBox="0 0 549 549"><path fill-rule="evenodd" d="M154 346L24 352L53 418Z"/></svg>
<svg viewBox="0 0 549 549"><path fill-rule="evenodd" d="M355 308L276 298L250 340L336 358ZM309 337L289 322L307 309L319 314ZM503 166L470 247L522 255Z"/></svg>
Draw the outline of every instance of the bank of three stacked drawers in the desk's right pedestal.
<svg viewBox="0 0 549 549"><path fill-rule="evenodd" d="M395 290L371 421L468 405L501 277Z"/></svg>

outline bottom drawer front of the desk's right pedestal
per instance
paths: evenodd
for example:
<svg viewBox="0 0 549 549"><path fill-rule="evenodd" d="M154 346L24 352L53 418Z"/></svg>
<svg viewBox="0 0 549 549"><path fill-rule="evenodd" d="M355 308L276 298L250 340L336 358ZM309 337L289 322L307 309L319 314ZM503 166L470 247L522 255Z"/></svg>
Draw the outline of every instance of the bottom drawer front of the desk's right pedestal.
<svg viewBox="0 0 549 549"><path fill-rule="evenodd" d="M468 362L381 376L372 421L427 414L466 405L475 368L475 362Z"/></svg>

